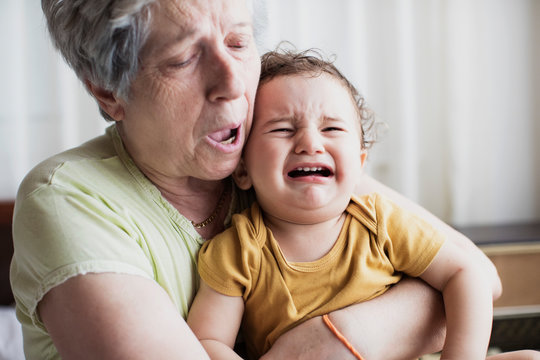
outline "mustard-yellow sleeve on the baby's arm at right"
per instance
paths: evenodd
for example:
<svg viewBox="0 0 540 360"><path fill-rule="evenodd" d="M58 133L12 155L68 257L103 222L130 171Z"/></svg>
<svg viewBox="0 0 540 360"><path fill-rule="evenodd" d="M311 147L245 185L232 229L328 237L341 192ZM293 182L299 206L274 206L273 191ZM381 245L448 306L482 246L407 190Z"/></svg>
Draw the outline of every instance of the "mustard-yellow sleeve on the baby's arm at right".
<svg viewBox="0 0 540 360"><path fill-rule="evenodd" d="M446 236L422 218L375 195L379 245L396 271L420 276L439 252Z"/></svg>

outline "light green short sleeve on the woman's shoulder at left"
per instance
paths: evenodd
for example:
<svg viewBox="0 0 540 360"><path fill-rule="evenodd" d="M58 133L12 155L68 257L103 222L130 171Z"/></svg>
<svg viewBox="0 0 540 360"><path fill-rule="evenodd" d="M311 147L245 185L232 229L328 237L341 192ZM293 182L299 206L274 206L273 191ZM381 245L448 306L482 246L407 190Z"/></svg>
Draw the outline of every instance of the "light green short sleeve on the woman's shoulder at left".
<svg viewBox="0 0 540 360"><path fill-rule="evenodd" d="M53 287L86 273L152 278L132 225L102 199L54 185L16 204L10 276L19 309L44 329L38 302Z"/></svg>

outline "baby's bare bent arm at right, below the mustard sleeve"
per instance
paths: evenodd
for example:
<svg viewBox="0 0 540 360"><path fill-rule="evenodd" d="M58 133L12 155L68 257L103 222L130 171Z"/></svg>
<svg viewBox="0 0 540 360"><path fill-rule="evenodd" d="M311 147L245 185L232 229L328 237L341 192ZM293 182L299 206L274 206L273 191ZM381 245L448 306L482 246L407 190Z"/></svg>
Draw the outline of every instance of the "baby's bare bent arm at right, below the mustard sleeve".
<svg viewBox="0 0 540 360"><path fill-rule="evenodd" d="M447 331L441 359L485 359L493 292L481 264L446 241L421 278L443 294Z"/></svg>

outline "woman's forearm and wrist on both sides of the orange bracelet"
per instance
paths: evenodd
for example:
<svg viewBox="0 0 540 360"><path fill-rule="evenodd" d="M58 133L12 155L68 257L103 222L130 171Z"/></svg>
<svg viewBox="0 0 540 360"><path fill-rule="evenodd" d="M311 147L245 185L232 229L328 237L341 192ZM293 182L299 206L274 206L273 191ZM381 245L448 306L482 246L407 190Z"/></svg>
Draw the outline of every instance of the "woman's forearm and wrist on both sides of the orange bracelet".
<svg viewBox="0 0 540 360"><path fill-rule="evenodd" d="M442 349L446 334L441 294L419 279L405 278L385 294L330 314L365 359L413 359ZM355 359L320 317L282 335L263 357Z"/></svg>

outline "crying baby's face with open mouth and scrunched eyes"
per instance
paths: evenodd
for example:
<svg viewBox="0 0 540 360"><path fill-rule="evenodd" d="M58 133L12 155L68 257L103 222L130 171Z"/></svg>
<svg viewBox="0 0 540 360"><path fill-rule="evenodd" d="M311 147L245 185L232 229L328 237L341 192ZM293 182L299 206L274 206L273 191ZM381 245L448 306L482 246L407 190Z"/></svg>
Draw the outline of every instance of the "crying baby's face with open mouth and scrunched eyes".
<svg viewBox="0 0 540 360"><path fill-rule="evenodd" d="M278 76L257 92L244 149L265 215L309 224L339 216L365 159L351 95L330 75Z"/></svg>

